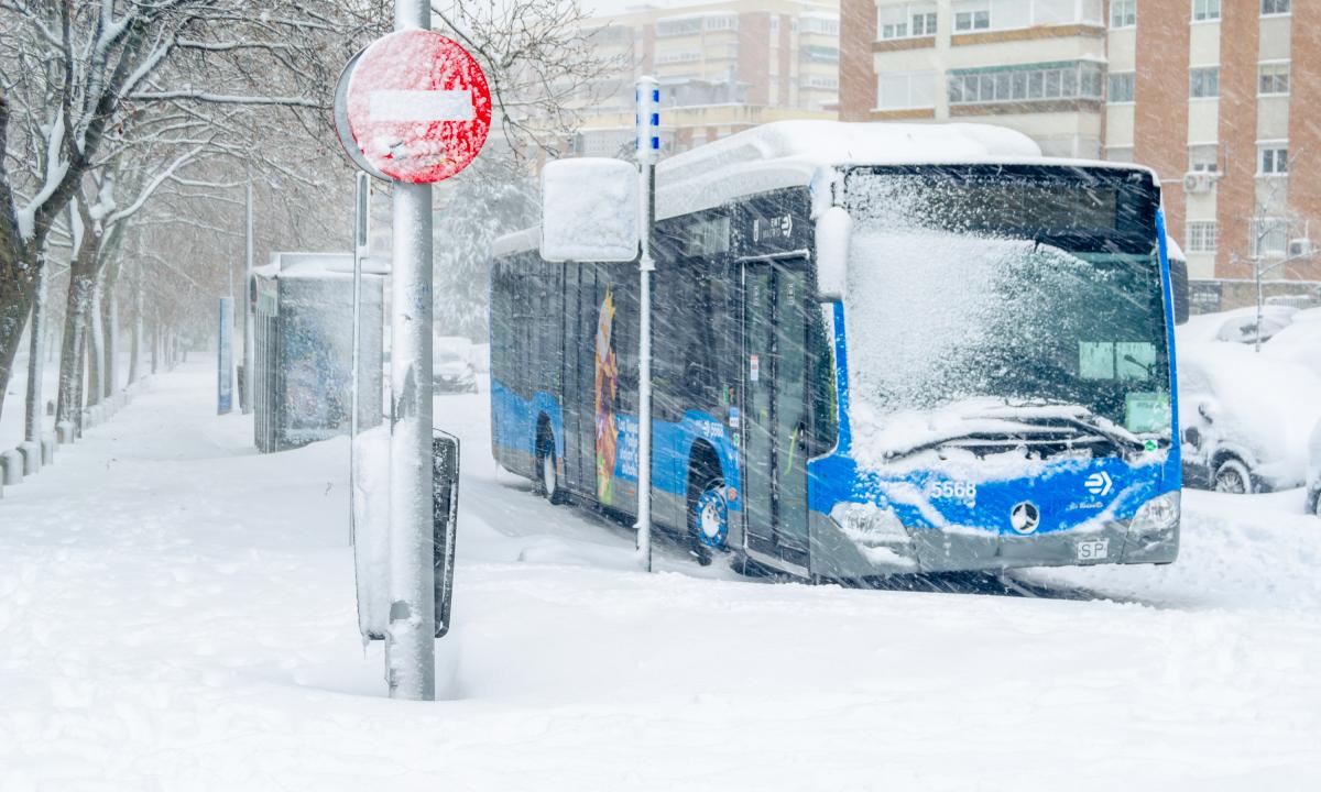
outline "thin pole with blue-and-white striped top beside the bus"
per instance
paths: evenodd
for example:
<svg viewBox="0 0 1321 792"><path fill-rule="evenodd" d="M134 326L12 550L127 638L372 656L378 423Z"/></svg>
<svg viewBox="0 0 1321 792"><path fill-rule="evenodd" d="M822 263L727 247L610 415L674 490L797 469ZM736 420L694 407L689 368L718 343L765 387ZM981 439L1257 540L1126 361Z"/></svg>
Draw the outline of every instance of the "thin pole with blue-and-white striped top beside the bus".
<svg viewBox="0 0 1321 792"><path fill-rule="evenodd" d="M642 326L638 333L638 561L651 572L651 220L655 213L655 169L660 153L660 86L655 78L637 82L638 168L642 170L638 257L639 306Z"/></svg>

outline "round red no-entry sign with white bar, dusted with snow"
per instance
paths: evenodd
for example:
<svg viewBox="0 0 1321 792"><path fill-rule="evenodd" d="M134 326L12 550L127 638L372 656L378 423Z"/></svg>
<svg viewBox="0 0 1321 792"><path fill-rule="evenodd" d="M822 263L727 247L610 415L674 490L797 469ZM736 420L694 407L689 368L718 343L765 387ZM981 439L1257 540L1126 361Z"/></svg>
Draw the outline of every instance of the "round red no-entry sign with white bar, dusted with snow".
<svg viewBox="0 0 1321 792"><path fill-rule="evenodd" d="M388 178L431 183L468 168L482 150L491 125L490 88L481 66L454 41L431 30L399 30L376 40L350 69L343 115L358 149L350 156L359 153Z"/></svg>

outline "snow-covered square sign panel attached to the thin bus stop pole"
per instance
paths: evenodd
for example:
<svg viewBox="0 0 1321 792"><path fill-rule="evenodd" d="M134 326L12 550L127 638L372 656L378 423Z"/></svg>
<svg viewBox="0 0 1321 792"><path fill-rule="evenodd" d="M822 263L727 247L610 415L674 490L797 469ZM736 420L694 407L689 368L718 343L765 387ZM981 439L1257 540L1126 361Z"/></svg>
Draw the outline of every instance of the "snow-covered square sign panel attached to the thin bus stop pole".
<svg viewBox="0 0 1321 792"><path fill-rule="evenodd" d="M542 169L542 257L637 260L638 189L638 170L624 160L576 157L547 162Z"/></svg>

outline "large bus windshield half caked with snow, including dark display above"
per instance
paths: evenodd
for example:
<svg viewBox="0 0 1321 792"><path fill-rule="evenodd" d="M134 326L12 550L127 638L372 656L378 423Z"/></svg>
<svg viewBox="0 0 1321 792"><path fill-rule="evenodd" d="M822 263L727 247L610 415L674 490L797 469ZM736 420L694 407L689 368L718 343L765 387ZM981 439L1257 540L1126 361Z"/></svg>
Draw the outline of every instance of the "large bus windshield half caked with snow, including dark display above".
<svg viewBox="0 0 1321 792"><path fill-rule="evenodd" d="M933 414L946 428L982 421L980 436L1053 416L1137 449L1169 442L1157 198L1145 174L855 170L845 195L855 422L888 436L888 454L921 438L913 426Z"/></svg>

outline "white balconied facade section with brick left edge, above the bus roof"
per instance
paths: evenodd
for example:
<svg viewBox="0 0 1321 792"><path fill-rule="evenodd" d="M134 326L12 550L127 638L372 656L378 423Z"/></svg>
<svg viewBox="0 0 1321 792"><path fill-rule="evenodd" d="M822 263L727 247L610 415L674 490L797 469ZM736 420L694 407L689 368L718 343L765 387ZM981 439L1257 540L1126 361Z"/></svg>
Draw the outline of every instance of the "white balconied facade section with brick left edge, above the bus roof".
<svg viewBox="0 0 1321 792"><path fill-rule="evenodd" d="M840 15L841 119L985 120L1100 157L1103 0L841 0Z"/></svg>

